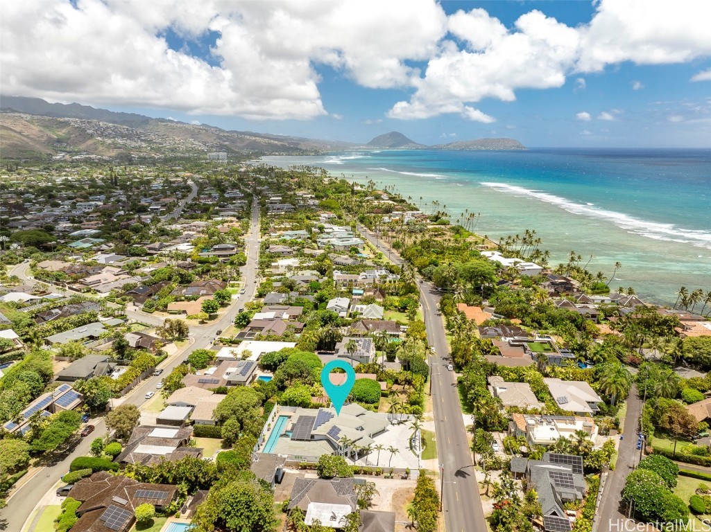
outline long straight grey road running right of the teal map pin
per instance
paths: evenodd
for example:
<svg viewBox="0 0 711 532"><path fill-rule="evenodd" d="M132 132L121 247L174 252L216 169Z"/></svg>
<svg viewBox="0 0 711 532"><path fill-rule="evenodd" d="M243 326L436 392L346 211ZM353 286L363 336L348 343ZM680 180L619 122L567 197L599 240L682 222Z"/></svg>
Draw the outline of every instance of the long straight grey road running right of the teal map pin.
<svg viewBox="0 0 711 532"><path fill-rule="evenodd" d="M388 249L365 227L358 227L361 234L379 251L390 256L394 264L402 264L400 256ZM429 357L432 367L432 403L434 427L437 433L439 462L444 465L443 506L444 524L447 532L486 532L479 485L474 474L469 441L466 437L464 419L461 415L459 391L456 388L454 371L447 370L449 346L444 332L444 322L439 315L439 295L427 282L419 284L420 303L427 326L427 338L436 354Z"/></svg>

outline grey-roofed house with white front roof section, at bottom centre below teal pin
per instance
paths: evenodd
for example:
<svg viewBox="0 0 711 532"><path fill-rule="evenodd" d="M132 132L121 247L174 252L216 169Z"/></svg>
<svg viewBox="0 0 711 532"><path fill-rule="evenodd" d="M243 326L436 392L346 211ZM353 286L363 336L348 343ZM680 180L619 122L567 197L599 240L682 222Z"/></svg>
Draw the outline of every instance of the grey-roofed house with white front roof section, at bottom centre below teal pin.
<svg viewBox="0 0 711 532"><path fill-rule="evenodd" d="M353 479L297 478L288 509L304 511L304 523L309 526L318 519L329 528L343 528L343 518L358 509L354 485Z"/></svg>

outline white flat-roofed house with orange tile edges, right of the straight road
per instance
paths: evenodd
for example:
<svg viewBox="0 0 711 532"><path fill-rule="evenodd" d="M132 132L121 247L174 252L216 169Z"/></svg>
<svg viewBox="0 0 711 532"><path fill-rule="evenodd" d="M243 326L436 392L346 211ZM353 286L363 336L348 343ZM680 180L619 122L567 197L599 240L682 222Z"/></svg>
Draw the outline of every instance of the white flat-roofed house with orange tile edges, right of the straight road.
<svg viewBox="0 0 711 532"><path fill-rule="evenodd" d="M599 428L593 418L514 413L508 423L508 435L523 436L532 447L552 445L558 438L572 439L580 430L595 443Z"/></svg>

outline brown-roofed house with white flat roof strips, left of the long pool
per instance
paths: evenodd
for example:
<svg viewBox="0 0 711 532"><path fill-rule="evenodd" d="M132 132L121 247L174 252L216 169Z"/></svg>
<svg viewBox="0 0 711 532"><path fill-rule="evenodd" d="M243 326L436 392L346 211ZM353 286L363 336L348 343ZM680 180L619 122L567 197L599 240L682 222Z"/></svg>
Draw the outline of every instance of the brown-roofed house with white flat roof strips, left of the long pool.
<svg viewBox="0 0 711 532"><path fill-rule="evenodd" d="M203 450L189 447L193 430L190 427L165 428L140 425L134 428L124 450L116 457L121 465L156 465L161 460L175 462L191 456L200 458Z"/></svg>

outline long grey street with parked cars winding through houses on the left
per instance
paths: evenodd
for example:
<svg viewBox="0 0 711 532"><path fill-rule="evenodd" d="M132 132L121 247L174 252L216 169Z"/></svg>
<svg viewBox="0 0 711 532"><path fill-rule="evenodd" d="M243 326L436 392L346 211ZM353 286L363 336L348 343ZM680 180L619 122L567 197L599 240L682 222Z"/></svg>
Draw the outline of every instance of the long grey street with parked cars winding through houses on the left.
<svg viewBox="0 0 711 532"><path fill-rule="evenodd" d="M166 359L166 361L161 364L161 368L164 369L164 375L170 373L174 367L181 364L184 359L193 352L194 349L201 349L205 347L210 347L217 337L218 330L225 330L230 323L235 320L235 316L244 307L245 301L250 300L256 291L257 284L255 283L255 278L257 275L257 261L259 259L259 206L257 202L252 205L252 224L250 229L250 234L246 239L248 246L247 254L247 265L242 266L242 275L245 278L245 294L240 295L240 299L237 300L235 305L232 305L220 320L206 325L203 327L193 327L191 329L191 337L193 337L193 344L185 349L177 357L172 357ZM27 264L21 266L28 266ZM141 321L146 321L146 316L152 317L151 315L145 315L140 313L137 319ZM156 317L156 319L159 319ZM145 394L148 391L155 391L156 384L163 378L163 376L151 376L149 379L143 381L139 386L133 389L127 396L124 396L124 403L134 404L140 407L146 402ZM68 453L65 457L62 457L60 461L51 465L50 467L45 467L36 473L36 476L31 480L23 484L23 486L11 495L11 499L8 502L6 508L0 511L0 517L8 520L8 532L20 532L23 524L31 515L33 509L35 508L38 501L48 492L53 489L54 485L60 477L63 476L69 470L70 462L78 456L85 456L89 454L91 440L93 440L97 435L103 435L106 431L106 425L103 418L99 418L92 421L95 425L96 430L88 438L82 438L78 445L73 448L72 451Z"/></svg>

